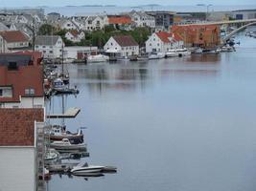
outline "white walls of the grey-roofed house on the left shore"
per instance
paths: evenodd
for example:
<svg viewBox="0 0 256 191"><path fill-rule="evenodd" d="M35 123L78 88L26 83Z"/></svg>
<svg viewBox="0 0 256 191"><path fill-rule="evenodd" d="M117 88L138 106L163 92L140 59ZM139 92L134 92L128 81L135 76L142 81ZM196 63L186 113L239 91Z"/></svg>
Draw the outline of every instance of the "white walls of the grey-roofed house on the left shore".
<svg viewBox="0 0 256 191"><path fill-rule="evenodd" d="M62 47L64 46L61 37L58 37L58 41L53 45L36 45L35 51L43 53L44 58L61 58Z"/></svg>

